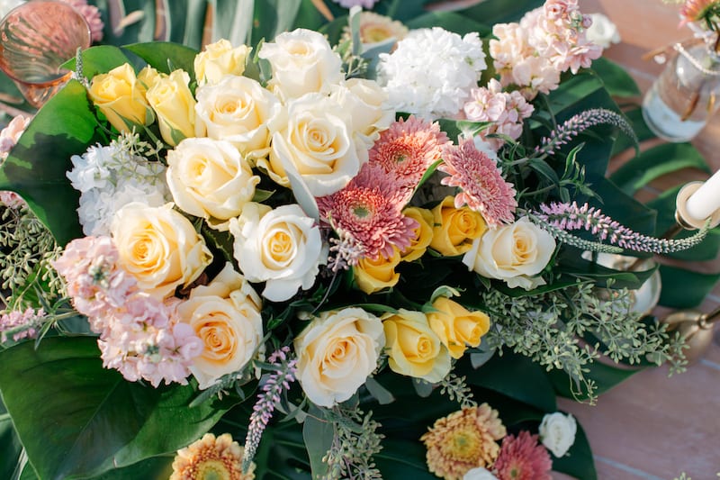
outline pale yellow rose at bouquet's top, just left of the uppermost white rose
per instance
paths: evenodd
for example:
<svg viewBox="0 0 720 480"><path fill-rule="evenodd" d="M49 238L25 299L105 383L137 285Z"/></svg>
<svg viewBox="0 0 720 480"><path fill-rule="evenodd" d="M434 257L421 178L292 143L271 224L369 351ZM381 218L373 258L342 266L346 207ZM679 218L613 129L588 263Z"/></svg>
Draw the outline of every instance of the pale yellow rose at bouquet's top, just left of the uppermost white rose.
<svg viewBox="0 0 720 480"><path fill-rule="evenodd" d="M206 45L194 60L197 85L217 83L226 75L242 75L251 50L247 45L232 48L232 44L225 39Z"/></svg>

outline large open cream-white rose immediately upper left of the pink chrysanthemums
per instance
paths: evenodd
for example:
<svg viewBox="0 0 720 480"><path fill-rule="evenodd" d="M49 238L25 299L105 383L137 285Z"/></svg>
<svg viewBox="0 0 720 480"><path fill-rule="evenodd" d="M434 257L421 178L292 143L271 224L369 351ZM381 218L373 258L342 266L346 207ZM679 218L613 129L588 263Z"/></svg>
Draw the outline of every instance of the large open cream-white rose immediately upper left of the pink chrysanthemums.
<svg viewBox="0 0 720 480"><path fill-rule="evenodd" d="M360 171L366 149L357 149L349 112L333 98L308 94L287 105L287 119L272 125L269 162L257 165L283 186L298 178L311 195L330 195Z"/></svg>

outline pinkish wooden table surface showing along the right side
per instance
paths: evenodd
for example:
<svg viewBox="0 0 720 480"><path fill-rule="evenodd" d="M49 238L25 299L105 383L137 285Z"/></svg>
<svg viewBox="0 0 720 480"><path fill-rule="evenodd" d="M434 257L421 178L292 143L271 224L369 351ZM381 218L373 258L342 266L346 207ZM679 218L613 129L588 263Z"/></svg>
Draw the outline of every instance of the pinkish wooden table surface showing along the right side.
<svg viewBox="0 0 720 480"><path fill-rule="evenodd" d="M635 77L643 91L652 85L662 65L642 59L647 51L689 37L679 28L678 6L661 0L582 0L583 13L602 13L617 25L622 41L606 50ZM640 100L640 99L637 99ZM720 168L720 116L708 123L693 144L713 171ZM617 168L611 165L610 168ZM686 170L683 181L707 174ZM649 199L677 186L673 174L659 178L638 196ZM692 266L720 271L720 259ZM710 312L720 304L720 287L700 306ZM586 430L602 480L672 479L685 472L693 480L717 478L720 472L720 334L705 358L688 371L668 378L667 370L644 371L600 396L597 406L563 400ZM562 475L557 475L562 478Z"/></svg>

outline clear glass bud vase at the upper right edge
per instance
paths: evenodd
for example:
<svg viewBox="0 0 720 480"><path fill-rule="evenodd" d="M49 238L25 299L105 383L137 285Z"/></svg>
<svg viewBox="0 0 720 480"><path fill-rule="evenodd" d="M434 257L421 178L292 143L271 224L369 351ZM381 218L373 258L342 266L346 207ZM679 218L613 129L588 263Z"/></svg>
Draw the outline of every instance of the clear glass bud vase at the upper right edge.
<svg viewBox="0 0 720 480"><path fill-rule="evenodd" d="M720 102L720 57L714 42L674 46L677 55L644 96L643 117L658 137L689 141L705 127Z"/></svg>

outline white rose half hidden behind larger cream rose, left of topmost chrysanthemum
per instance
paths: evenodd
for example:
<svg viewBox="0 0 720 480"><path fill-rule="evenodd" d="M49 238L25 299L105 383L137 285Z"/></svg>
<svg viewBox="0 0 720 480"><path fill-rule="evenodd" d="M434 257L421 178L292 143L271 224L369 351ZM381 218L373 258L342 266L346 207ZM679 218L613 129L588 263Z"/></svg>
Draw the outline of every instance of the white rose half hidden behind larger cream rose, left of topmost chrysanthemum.
<svg viewBox="0 0 720 480"><path fill-rule="evenodd" d="M374 80L350 78L333 89L332 95L345 112L352 112L353 131L358 148L370 149L380 132L395 120L395 111L387 106L387 93Z"/></svg>

